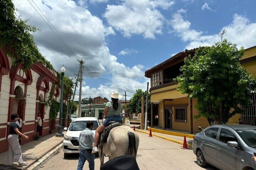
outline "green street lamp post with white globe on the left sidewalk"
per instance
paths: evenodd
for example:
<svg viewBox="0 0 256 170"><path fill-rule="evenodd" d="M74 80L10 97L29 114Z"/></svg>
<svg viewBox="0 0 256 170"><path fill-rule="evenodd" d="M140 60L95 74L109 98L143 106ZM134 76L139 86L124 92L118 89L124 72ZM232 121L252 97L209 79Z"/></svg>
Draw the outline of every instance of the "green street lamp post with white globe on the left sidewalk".
<svg viewBox="0 0 256 170"><path fill-rule="evenodd" d="M64 136L64 134L62 133L63 77L66 71L66 69L64 68L64 65L60 70L61 70L61 93L60 93L59 125L58 125L58 133L56 134L56 137Z"/></svg>

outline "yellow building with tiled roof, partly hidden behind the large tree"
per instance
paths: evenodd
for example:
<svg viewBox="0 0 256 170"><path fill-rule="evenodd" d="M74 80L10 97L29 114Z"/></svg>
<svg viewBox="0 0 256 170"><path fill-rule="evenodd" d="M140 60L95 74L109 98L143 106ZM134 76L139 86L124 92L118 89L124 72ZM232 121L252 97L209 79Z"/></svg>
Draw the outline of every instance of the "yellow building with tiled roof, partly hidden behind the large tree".
<svg viewBox="0 0 256 170"><path fill-rule="evenodd" d="M198 132L198 126L209 126L205 118L193 119L198 114L194 106L197 104L196 99L189 99L187 94L181 94L177 91L178 85L175 85L173 79L180 74L180 67L184 65L184 57L195 54L197 49L185 50L164 62L146 70L145 76L151 79L151 121L156 122L160 128L169 128L182 131ZM245 54L240 63L252 77L256 77L256 46L245 50ZM252 97L253 106L244 107L245 114L237 114L229 119L230 124L238 124L239 118L245 124L251 121L256 123L256 105L255 96ZM158 109L153 104L157 104ZM157 116L153 113L157 112ZM164 114L163 114L164 113ZM254 124L255 124L254 123Z"/></svg>

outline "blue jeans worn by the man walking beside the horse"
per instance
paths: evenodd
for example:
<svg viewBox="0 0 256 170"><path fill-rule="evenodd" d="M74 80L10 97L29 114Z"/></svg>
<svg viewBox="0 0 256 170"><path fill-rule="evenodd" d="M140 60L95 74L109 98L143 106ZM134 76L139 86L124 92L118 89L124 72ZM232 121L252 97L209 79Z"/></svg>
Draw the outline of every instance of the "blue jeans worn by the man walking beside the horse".
<svg viewBox="0 0 256 170"><path fill-rule="evenodd" d="M77 170L83 170L85 161L89 162L89 169L94 170L94 154L89 154L86 150L80 150Z"/></svg>

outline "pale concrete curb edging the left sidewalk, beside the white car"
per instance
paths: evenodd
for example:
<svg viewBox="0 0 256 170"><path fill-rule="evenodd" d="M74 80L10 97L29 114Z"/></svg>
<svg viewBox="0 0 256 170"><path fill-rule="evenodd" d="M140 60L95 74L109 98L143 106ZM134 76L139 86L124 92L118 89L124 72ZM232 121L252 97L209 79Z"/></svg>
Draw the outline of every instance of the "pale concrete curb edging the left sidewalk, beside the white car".
<svg viewBox="0 0 256 170"><path fill-rule="evenodd" d="M30 166L27 170L39 169L43 164L45 164L49 159L51 159L61 149L62 149L62 144L59 144L57 147L54 147L54 149L51 150L49 153L47 153L45 156L41 157L41 159L39 159L35 164Z"/></svg>

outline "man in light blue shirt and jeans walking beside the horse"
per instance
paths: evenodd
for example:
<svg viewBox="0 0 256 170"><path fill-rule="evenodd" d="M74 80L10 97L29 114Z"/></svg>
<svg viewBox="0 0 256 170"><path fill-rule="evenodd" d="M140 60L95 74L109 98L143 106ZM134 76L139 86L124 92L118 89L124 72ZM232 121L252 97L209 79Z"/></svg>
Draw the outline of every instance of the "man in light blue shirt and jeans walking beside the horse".
<svg viewBox="0 0 256 170"><path fill-rule="evenodd" d="M88 121L86 128L83 130L78 138L80 153L78 159L77 170L82 170L87 160L89 163L89 169L94 170L95 155L91 153L92 143L94 142L94 133L91 131L93 128L93 122Z"/></svg>

